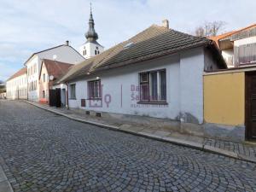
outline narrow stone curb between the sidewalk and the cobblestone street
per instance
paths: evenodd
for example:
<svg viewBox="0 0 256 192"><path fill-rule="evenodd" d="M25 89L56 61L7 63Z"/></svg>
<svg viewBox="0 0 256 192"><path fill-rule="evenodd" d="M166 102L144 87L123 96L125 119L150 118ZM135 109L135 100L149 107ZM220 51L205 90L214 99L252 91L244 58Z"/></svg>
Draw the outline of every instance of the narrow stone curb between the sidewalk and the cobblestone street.
<svg viewBox="0 0 256 192"><path fill-rule="evenodd" d="M22 102L26 102L26 101L22 101ZM78 121L80 123L89 124L89 125L96 125L96 126L108 129L108 130L125 132L125 133L131 134L131 135L136 135L136 136L139 136L139 137L146 137L146 138L154 139L154 140L157 140L157 141L160 141L160 142L172 143L172 144L180 145L180 146L187 147L187 148L194 148L194 149L209 152L209 153L212 153L212 154L219 154L219 155L230 157L230 158L233 158L233 159L236 159L236 160L244 160L244 161L256 164L256 158L251 158L251 157L248 157L248 156L245 156L245 155L242 155L242 154L237 154L235 152L224 150L222 148L215 148L215 147L212 147L210 145L204 145L204 144L195 143L195 142L188 142L188 141L185 141L185 140L182 140L182 139L177 139L177 138L172 138L172 137L161 137L161 136L158 136L158 135L154 135L154 134L150 134L150 133L146 133L146 132L142 132L142 131L139 131L139 132L127 131L127 130L120 129L118 126L106 125L106 124L96 123L96 122L90 121L90 120L74 118L74 117L71 117L68 114L57 112L55 110L39 106L37 103L32 103L32 102L26 102L26 103L31 104L32 106L35 106L37 108L41 108L41 109L44 109L46 111L49 111L51 113L59 114L61 116L66 117L67 119L72 119L72 120Z"/></svg>

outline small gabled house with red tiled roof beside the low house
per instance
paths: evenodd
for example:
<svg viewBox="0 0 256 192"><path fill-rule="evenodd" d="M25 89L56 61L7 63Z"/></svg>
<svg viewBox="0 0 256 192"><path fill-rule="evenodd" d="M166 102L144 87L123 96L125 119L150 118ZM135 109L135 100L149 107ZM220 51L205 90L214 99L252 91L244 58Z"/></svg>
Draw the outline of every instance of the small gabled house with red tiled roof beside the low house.
<svg viewBox="0 0 256 192"><path fill-rule="evenodd" d="M55 92L56 87L54 86L56 81L60 79L63 75L65 75L70 69L70 67L72 66L73 64L60 62L60 61L46 60L46 59L42 61L42 65L39 72L39 79L38 79L39 102L44 104L50 103L49 100L50 98L53 98L53 97L50 97L49 95ZM61 96L63 98L63 102L61 103L62 106L66 105L65 103L66 90L67 90L66 86L60 90L61 94L63 94Z"/></svg>

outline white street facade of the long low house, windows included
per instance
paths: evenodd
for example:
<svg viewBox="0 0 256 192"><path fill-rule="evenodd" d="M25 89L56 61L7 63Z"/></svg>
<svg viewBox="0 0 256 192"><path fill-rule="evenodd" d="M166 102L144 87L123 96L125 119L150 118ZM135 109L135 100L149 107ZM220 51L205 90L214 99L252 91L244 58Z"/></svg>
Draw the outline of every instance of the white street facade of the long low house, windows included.
<svg viewBox="0 0 256 192"><path fill-rule="evenodd" d="M203 73L205 68L218 68L207 57L206 50L192 49L137 63L108 72L89 75L86 79L69 82L69 108L96 112L121 113L181 122L203 123ZM142 77L148 73L149 98L142 100ZM155 80L153 80L155 79ZM101 84L94 90L98 98L91 98L90 82ZM155 84L155 85L154 85ZM146 88L147 89L147 88ZM155 91L153 91L155 89ZM95 94L95 93L94 93ZM154 98L158 96L160 98ZM81 101L85 101L85 106ZM160 101L158 101L160 100Z"/></svg>

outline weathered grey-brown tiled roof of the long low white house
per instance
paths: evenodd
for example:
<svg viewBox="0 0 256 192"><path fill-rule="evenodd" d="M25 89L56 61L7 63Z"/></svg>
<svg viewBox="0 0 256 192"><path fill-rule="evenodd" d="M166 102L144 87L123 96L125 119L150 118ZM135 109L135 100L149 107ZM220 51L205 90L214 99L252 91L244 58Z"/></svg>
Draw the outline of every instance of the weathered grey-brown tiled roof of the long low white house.
<svg viewBox="0 0 256 192"><path fill-rule="evenodd" d="M124 46L131 42L134 44L127 48ZM207 38L195 37L185 32L153 24L100 55L81 62L79 66L74 66L59 82L77 79L88 72L96 72L101 67L106 69L111 68L110 65L121 67L123 64L146 61L153 57L194 49L197 46L209 46L211 42L212 40Z"/></svg>

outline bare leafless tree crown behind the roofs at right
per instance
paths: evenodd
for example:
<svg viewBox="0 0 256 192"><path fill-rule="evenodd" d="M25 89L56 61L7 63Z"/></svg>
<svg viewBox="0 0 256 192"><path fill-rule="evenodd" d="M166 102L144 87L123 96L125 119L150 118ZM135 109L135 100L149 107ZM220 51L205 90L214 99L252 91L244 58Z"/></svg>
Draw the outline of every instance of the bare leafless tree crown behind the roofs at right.
<svg viewBox="0 0 256 192"><path fill-rule="evenodd" d="M205 22L202 26L197 26L195 28L195 36L198 37L211 37L216 36L219 32L224 30L226 23L221 20L216 20L212 22Z"/></svg>

